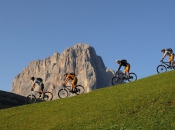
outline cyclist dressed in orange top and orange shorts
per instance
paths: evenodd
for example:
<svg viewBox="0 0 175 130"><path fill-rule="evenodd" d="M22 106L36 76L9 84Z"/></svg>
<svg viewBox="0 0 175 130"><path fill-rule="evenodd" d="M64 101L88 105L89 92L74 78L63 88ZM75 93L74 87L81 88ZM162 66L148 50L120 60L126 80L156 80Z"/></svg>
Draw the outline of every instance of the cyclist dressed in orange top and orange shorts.
<svg viewBox="0 0 175 130"><path fill-rule="evenodd" d="M63 85L66 86L67 82L69 80L72 80L72 85L71 85L70 92L74 92L74 88L77 85L77 81L78 81L77 77L75 76L74 73L66 73L64 76L66 76L66 80L64 81Z"/></svg>

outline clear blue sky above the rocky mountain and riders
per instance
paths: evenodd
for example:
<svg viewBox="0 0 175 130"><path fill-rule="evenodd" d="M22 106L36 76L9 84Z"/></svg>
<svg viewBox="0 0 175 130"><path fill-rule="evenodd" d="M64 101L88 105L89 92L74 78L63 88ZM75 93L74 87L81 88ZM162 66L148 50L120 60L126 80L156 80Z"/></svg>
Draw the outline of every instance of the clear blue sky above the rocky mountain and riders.
<svg viewBox="0 0 175 130"><path fill-rule="evenodd" d="M138 79L155 75L161 49L175 52L174 6L175 0L0 0L0 90L10 92L31 61L77 43L94 47L109 69L126 59Z"/></svg>

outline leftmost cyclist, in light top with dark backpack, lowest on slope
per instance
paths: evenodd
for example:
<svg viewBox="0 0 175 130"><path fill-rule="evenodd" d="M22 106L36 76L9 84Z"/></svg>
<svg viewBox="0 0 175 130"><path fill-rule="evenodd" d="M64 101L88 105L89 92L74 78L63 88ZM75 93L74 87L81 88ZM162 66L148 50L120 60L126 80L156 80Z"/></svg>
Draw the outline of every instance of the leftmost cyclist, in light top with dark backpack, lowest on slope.
<svg viewBox="0 0 175 130"><path fill-rule="evenodd" d="M39 97L41 97L41 94L43 94L43 97L44 97L44 92L43 92L44 84L42 82L42 79L41 78L31 77L30 80L33 81L33 85L32 85L31 91L33 91L35 86L38 85L39 86L39 94L40 94Z"/></svg>

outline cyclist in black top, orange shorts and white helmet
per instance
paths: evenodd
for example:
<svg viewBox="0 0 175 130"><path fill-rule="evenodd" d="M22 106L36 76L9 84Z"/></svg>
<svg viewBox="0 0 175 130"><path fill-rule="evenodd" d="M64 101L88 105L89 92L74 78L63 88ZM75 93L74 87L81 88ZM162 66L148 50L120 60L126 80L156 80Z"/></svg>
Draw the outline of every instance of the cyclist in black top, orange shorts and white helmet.
<svg viewBox="0 0 175 130"><path fill-rule="evenodd" d="M116 73L118 73L120 71L120 68L122 66L125 66L125 69L124 69L124 75L128 75L128 77L130 77L130 74L129 74L129 71L130 71L130 64L127 62L127 60L123 59L123 60L116 60L116 63L119 64L119 68L117 70Z"/></svg>

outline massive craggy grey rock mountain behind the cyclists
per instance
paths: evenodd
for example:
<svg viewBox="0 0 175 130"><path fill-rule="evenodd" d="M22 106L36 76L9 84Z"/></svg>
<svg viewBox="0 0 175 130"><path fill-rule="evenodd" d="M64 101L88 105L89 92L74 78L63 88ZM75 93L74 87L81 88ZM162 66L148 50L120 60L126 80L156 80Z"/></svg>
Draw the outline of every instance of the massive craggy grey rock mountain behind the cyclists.
<svg viewBox="0 0 175 130"><path fill-rule="evenodd" d="M111 86L111 79L114 76L114 71L106 69L102 58L96 55L93 47L79 43L67 48L62 54L56 52L44 60L30 62L14 78L11 92L27 96L32 86L30 77L41 77L45 89L52 92L56 99L64 81L64 74L69 72L75 72L77 84L83 85L86 92Z"/></svg>

